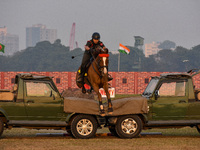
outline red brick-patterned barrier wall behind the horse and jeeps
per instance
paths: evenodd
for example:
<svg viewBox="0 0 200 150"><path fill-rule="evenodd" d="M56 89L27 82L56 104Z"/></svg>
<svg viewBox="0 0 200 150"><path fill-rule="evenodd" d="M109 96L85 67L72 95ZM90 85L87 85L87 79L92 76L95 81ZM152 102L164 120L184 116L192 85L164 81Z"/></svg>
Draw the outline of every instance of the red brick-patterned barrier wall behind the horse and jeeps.
<svg viewBox="0 0 200 150"><path fill-rule="evenodd" d="M15 75L25 72L0 72L0 89L12 89ZM54 77L59 91L76 86L76 72L30 72L37 75ZM110 84L117 94L141 94L146 88L151 76L159 76L164 72L110 72L114 78ZM194 77L196 88L200 89L200 75Z"/></svg>

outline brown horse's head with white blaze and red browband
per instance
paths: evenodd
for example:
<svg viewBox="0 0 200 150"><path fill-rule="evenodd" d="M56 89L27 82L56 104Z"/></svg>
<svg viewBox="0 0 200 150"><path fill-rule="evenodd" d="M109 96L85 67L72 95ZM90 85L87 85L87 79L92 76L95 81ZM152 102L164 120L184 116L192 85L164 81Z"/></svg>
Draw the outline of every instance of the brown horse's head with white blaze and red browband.
<svg viewBox="0 0 200 150"><path fill-rule="evenodd" d="M99 71L101 76L108 73L109 54L99 54Z"/></svg>

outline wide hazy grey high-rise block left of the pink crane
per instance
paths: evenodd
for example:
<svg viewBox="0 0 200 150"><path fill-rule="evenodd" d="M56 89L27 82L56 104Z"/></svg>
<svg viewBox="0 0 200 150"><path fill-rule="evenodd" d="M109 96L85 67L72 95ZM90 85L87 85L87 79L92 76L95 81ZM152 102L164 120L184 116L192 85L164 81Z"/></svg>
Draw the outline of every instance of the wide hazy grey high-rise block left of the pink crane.
<svg viewBox="0 0 200 150"><path fill-rule="evenodd" d="M33 47L41 41L53 43L56 39L56 29L47 29L46 26L42 24L36 24L26 28L26 47Z"/></svg>

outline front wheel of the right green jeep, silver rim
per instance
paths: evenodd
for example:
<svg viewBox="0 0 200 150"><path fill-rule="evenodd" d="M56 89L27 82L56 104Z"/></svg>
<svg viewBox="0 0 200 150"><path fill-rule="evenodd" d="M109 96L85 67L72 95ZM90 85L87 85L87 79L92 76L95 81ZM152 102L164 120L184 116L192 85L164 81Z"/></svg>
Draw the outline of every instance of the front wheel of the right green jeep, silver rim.
<svg viewBox="0 0 200 150"><path fill-rule="evenodd" d="M137 115L122 116L117 120L115 129L121 138L134 138L142 130L142 121Z"/></svg>

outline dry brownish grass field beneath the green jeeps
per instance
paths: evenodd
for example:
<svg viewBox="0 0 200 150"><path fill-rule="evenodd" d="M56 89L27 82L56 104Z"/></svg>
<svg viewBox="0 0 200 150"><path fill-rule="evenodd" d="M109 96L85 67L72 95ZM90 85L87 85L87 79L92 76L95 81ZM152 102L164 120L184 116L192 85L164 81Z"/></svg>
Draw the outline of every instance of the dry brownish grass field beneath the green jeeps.
<svg viewBox="0 0 200 150"><path fill-rule="evenodd" d="M100 129L98 133L107 133ZM37 133L64 133L55 130L5 130L0 139L2 150L26 149L81 149L81 150L199 150L200 135L196 128L151 129L144 132L161 132L162 135L142 135L134 139L119 139L114 136L96 136L93 139L74 139L70 136L36 136Z"/></svg>

